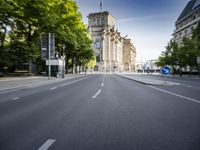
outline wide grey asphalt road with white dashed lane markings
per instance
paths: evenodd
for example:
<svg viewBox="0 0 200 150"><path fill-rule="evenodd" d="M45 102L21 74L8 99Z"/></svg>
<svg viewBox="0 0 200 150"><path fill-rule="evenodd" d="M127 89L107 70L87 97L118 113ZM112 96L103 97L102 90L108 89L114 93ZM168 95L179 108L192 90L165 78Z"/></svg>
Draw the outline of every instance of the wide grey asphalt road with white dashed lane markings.
<svg viewBox="0 0 200 150"><path fill-rule="evenodd" d="M188 88L91 75L2 93L0 150L199 150Z"/></svg>

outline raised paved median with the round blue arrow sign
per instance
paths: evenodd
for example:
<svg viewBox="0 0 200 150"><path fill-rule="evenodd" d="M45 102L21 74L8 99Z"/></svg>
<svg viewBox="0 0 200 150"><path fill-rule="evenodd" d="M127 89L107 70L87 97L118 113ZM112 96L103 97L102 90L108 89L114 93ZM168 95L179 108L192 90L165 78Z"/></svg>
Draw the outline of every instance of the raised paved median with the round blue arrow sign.
<svg viewBox="0 0 200 150"><path fill-rule="evenodd" d="M142 75L141 76L134 75L134 74L115 74L115 75L129 79L129 80L133 80L142 84L146 84L146 85L163 85L163 86L180 85L180 83L169 82L169 81L165 83L164 80L158 80L151 77L146 78L145 76L142 76Z"/></svg>

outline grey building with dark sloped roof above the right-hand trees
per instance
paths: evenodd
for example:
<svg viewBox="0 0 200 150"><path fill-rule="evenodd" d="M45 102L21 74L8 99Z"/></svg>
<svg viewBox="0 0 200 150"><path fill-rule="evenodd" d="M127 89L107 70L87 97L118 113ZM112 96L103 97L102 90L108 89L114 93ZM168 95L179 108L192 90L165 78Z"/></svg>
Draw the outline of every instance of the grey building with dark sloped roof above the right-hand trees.
<svg viewBox="0 0 200 150"><path fill-rule="evenodd" d="M177 19L173 40L179 45L184 37L191 37L192 30L200 23L200 0L190 0Z"/></svg>

